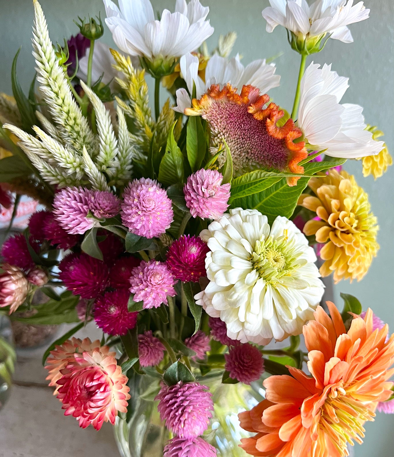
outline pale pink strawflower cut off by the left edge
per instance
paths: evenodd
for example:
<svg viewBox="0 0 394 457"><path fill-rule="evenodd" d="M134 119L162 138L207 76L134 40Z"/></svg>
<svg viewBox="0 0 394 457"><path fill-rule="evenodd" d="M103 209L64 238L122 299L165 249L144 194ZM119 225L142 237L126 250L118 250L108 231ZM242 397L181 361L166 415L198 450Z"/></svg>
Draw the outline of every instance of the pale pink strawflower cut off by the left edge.
<svg viewBox="0 0 394 457"><path fill-rule="evenodd" d="M29 282L20 268L7 263L0 265L0 308L10 307L10 314L26 300Z"/></svg>

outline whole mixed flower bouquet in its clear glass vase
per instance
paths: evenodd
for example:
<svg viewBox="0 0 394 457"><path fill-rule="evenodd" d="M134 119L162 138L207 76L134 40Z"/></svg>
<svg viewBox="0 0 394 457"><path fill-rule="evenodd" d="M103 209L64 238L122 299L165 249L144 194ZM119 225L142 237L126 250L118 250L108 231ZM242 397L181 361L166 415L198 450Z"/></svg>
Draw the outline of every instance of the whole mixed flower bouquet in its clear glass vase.
<svg viewBox="0 0 394 457"><path fill-rule="evenodd" d="M1 311L77 323L44 354L49 385L81 427L114 424L123 456L348 456L392 409L394 337L355 297L341 313L320 303L320 276L359 281L378 251L341 166L376 178L392 161L362 108L340 103L347 78L306 61L352 42L369 10L270 0L267 31L285 27L301 56L290 113L267 95L273 63L228 58L234 33L208 51L199 0L158 20L149 0L104 3L120 51L99 41L100 17L54 46L34 0L36 77L26 96L16 55L0 96L2 201L47 208L3 244ZM101 341L73 336L93 320Z"/></svg>

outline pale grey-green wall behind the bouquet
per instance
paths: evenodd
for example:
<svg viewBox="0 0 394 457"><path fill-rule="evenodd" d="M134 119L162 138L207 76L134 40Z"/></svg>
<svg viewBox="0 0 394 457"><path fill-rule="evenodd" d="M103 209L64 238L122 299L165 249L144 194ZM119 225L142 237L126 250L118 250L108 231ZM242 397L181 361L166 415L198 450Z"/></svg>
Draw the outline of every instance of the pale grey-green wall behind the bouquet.
<svg viewBox="0 0 394 457"><path fill-rule="evenodd" d="M175 0L153 0L155 10L170 10ZM364 107L366 122L378 125L385 132L384 140L394 153L394 2L392 0L366 0L371 9L367 21L350 26L353 44L330 40L320 54L312 56L320 64L333 64L340 75L350 76L350 88L344 102L358 103ZM41 0L47 17L53 42L63 42L63 37L76 33L73 19L78 16L96 15L101 11L101 0ZM238 39L234 52L243 56L244 64L256 58L272 57L284 51L276 60L277 73L282 75L282 85L270 94L274 100L291 110L299 68L299 55L289 48L286 32L277 27L273 33L265 32L261 11L268 0L203 0L210 6L209 18L215 34L208 44L214 48L220 33L236 31ZM0 90L11 93L11 63L17 49L19 56L18 76L27 91L32 80L33 58L31 54L31 31L33 7L30 0L0 0ZM112 43L108 29L103 40ZM310 58L309 61L312 60ZM359 184L368 192L373 212L378 217L381 245L377 259L360 283L341 282L335 287L336 303L341 306L339 292L357 296L364 308L373 310L394 329L394 166L373 181L362 177L361 162L348 161L346 169L356 176ZM394 447L394 415L378 414L375 422L366 425L367 436L363 446L355 449L356 457L375 455L392 456Z"/></svg>

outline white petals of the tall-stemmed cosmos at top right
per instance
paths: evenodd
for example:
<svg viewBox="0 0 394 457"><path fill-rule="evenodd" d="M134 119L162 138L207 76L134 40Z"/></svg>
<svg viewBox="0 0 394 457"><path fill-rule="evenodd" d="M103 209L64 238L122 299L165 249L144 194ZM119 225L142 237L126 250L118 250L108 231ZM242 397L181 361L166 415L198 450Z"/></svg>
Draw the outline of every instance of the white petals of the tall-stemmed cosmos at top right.
<svg viewBox="0 0 394 457"><path fill-rule="evenodd" d="M353 0L317 0L308 5L305 0L269 0L271 6L263 10L267 32L280 25L297 37L320 37L326 33L343 43L352 43L347 25L368 19L369 10L362 1L353 6Z"/></svg>

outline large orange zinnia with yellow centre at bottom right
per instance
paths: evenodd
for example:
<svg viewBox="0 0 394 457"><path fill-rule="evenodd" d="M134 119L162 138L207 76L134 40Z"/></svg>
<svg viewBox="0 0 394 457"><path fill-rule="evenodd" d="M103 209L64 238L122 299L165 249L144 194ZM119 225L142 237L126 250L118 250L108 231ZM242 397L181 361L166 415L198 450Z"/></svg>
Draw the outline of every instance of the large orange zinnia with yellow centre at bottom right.
<svg viewBox="0 0 394 457"><path fill-rule="evenodd" d="M346 331L335 305L327 305L331 318L319 306L303 330L312 376L288 367L291 376L268 377L266 399L238 415L242 428L257 432L241 440L249 454L348 456L347 443L362 443L364 422L390 398L394 336L385 342L387 325L373 330L369 309Z"/></svg>

